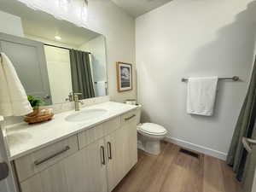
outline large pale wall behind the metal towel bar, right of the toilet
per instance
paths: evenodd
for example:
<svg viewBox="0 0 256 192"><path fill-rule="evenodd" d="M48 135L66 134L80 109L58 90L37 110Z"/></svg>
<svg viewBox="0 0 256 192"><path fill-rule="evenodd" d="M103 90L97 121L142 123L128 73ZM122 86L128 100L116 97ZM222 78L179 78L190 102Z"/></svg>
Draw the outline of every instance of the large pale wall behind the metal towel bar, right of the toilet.
<svg viewBox="0 0 256 192"><path fill-rule="evenodd" d="M255 18L253 0L178 0L138 17L143 120L164 125L174 143L225 159L253 66ZM181 79L215 75L241 81L219 81L212 117L186 113Z"/></svg>

